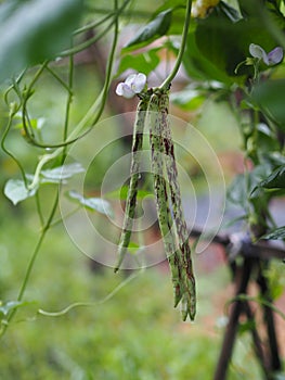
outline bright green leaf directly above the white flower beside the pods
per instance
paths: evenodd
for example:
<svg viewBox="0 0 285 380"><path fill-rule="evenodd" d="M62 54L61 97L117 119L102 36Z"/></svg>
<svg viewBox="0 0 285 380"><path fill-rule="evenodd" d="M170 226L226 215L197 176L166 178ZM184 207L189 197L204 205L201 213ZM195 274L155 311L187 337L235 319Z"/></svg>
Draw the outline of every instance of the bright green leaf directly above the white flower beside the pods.
<svg viewBox="0 0 285 380"><path fill-rule="evenodd" d="M144 73L146 76L152 73L159 64L160 60L157 52L160 48L151 49L144 53L127 54L120 60L117 76L129 68L133 68L137 72Z"/></svg>

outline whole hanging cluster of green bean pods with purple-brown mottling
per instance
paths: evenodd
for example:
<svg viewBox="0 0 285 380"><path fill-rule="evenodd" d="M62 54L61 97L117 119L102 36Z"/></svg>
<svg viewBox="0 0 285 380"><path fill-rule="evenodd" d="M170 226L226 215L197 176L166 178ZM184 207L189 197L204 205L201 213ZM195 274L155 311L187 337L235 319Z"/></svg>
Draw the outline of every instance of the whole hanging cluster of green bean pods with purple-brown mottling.
<svg viewBox="0 0 285 380"><path fill-rule="evenodd" d="M140 151L144 127L147 125L156 208L171 270L174 307L181 303L182 319L185 320L189 316L193 320L196 313L195 278L189 232L182 211L174 149L168 118L168 104L169 90L157 88L143 93L138 105L133 130L130 186L115 271L119 269L130 242L140 176Z"/></svg>

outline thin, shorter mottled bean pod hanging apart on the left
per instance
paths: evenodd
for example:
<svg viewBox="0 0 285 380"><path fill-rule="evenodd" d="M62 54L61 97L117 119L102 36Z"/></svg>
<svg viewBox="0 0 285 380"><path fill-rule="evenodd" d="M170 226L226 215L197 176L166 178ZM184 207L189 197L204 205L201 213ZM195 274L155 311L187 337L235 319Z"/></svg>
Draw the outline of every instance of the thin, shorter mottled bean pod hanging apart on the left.
<svg viewBox="0 0 285 380"><path fill-rule="evenodd" d="M138 186L140 179L140 152L143 143L143 132L147 105L150 101L150 94L145 93L140 100L137 109L133 139L132 139L132 156L131 156L131 168L130 168L130 185L126 201L122 231L120 241L118 244L118 259L115 265L114 271L117 273L126 256L128 246L130 243L133 218L137 204Z"/></svg>

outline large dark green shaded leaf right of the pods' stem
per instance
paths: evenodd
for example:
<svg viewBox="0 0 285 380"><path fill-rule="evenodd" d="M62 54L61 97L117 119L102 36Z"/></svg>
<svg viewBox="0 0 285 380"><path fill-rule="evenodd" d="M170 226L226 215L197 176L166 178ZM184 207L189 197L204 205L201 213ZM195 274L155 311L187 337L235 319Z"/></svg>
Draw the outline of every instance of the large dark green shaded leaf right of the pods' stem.
<svg viewBox="0 0 285 380"><path fill-rule="evenodd" d="M199 21L196 28L196 43L200 53L217 68L241 81L238 76L252 74L252 67L243 65L237 75L235 68L249 56L249 45L260 45L265 51L276 47L275 39L267 28L260 28L260 17L250 16L233 21L235 10L220 2L210 15ZM262 66L267 69L268 66Z"/></svg>

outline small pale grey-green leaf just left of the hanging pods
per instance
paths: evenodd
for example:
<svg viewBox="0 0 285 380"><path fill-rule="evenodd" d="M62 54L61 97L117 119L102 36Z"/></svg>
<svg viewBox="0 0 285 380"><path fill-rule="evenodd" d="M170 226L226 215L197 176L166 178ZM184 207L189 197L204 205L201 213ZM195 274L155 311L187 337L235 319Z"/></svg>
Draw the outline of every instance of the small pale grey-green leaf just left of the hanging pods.
<svg viewBox="0 0 285 380"><path fill-rule="evenodd" d="M90 211L96 211L111 218L114 217L114 212L109 202L103 200L102 198L86 198L75 190L68 191L67 195L72 201L75 201L76 203L82 205L83 207Z"/></svg>

